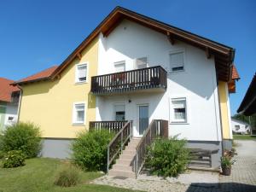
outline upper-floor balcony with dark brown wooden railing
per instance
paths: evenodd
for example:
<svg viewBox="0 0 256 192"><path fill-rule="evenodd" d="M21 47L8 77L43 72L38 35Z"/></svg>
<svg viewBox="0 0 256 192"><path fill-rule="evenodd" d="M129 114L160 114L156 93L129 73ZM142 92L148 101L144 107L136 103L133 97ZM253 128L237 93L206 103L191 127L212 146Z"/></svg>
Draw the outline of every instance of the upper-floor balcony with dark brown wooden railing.
<svg viewBox="0 0 256 192"><path fill-rule="evenodd" d="M165 91L166 70L148 67L121 73L111 73L91 78L91 92L95 95L121 94L134 91Z"/></svg>

